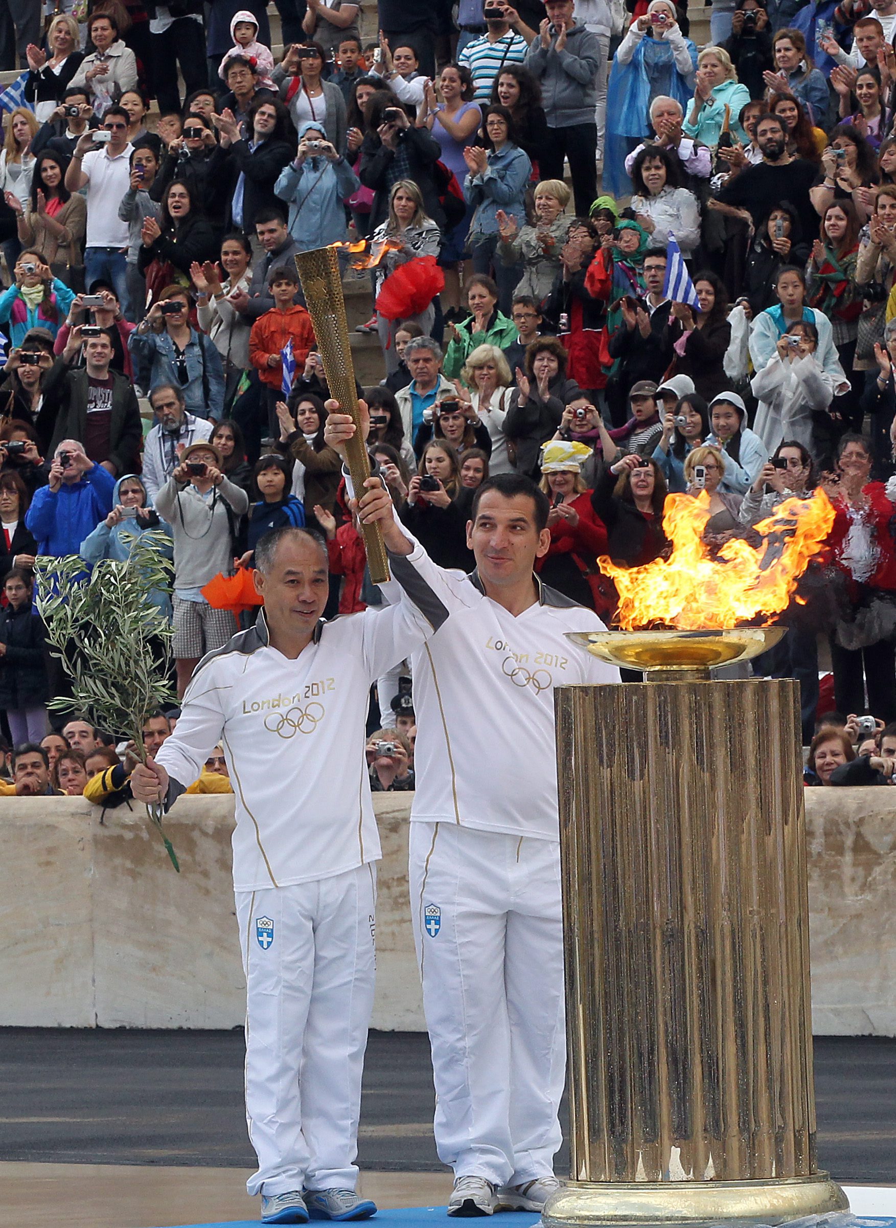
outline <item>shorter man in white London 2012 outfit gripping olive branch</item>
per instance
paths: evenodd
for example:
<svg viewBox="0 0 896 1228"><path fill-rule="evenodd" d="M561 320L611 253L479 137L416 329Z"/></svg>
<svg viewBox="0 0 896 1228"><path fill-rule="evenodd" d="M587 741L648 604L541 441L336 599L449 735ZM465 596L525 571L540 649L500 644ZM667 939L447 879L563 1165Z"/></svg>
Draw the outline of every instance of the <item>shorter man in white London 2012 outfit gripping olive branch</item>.
<svg viewBox="0 0 896 1228"><path fill-rule="evenodd" d="M324 623L325 545L304 529L265 534L255 548L258 621L199 663L177 729L131 775L139 801L167 809L214 747L225 750L247 980L245 1109L258 1154L248 1191L261 1194L270 1224L377 1210L355 1191L379 858L367 704L372 680L447 610L430 585L441 582L438 569L420 548L411 553L382 484L367 486L362 526L382 526L415 577L396 588L398 604Z"/></svg>

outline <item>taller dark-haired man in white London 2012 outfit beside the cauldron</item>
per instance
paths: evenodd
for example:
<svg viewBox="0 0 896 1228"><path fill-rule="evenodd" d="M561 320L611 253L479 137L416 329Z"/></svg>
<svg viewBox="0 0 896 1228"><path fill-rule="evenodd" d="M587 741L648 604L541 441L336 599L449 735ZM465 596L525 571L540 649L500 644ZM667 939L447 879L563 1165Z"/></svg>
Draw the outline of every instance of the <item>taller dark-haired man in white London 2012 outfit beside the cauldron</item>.
<svg viewBox="0 0 896 1228"><path fill-rule="evenodd" d="M345 454L355 422L328 408L324 438ZM454 1169L449 1216L538 1212L558 1186L566 1035L554 688L619 682L619 670L570 650L567 631L604 624L534 575L550 546L549 511L528 478L486 480L466 526L476 570L433 569L450 616L426 643L407 643L417 717L411 917L436 1147ZM420 548L399 548L392 532L388 548L393 578L411 593Z"/></svg>

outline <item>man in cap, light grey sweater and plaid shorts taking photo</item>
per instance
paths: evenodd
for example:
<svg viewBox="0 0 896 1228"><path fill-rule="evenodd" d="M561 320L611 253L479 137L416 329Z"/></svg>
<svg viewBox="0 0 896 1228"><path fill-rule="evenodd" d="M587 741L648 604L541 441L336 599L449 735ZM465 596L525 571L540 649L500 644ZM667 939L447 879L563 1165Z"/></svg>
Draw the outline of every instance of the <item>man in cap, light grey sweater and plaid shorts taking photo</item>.
<svg viewBox="0 0 896 1228"><path fill-rule="evenodd" d="M178 696L205 653L222 647L234 631L231 612L214 609L203 597L203 586L214 576L233 571L237 518L249 510L249 496L225 478L222 467L211 443L190 443L155 499L174 538Z"/></svg>

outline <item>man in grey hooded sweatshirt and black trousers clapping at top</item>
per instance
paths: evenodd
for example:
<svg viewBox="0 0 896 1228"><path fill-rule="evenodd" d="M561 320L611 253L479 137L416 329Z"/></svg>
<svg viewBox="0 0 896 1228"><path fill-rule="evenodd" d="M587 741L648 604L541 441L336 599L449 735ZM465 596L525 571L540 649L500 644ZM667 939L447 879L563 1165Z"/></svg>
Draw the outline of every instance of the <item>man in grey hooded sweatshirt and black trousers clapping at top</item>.
<svg viewBox="0 0 896 1228"><path fill-rule="evenodd" d="M598 194L594 108L600 41L576 25L573 0L545 0L545 9L547 17L525 56L525 66L541 86L550 134L539 168L543 179L562 179L563 158L568 158L576 215L587 217Z"/></svg>

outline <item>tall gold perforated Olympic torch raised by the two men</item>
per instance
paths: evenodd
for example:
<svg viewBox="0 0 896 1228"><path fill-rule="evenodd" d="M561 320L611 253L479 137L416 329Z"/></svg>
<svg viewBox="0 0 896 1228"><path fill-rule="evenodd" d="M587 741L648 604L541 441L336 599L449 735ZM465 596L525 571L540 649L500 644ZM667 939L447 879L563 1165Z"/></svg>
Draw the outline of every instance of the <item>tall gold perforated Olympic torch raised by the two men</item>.
<svg viewBox="0 0 896 1228"><path fill-rule="evenodd" d="M351 414L357 431L349 440L349 473L356 497L361 497L365 481L371 475L371 462L367 446L361 435L361 411L355 388L355 368L351 362L349 344L349 323L345 318L345 296L342 278L339 271L339 257L335 247L319 247L312 252L302 252L296 257L296 268L302 280L304 301L314 325L318 351L324 363L324 375L330 389L330 397L339 402L344 413ZM374 585L383 585L389 578L389 560L385 554L383 534L378 524L362 524L361 533L367 550L367 565Z"/></svg>

